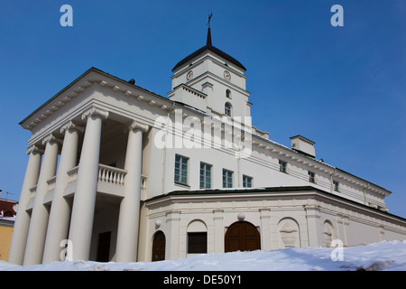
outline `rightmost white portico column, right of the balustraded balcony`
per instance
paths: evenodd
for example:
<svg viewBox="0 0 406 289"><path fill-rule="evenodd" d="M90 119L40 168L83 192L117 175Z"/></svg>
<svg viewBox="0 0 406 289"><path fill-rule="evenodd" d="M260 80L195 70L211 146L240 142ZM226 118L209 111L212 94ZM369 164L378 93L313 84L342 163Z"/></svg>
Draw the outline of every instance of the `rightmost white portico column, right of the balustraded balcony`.
<svg viewBox="0 0 406 289"><path fill-rule="evenodd" d="M137 261L140 224L141 172L143 163L143 132L149 126L136 121L129 127L125 154L125 198L118 217L116 262Z"/></svg>

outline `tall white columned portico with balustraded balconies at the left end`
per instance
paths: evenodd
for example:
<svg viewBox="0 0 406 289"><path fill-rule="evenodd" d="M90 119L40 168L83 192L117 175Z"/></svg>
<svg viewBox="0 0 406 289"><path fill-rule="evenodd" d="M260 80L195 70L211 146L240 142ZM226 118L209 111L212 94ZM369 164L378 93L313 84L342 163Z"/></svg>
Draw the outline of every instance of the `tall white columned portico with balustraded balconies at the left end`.
<svg viewBox="0 0 406 289"><path fill-rule="evenodd" d="M97 231L105 229L116 237L109 259L136 260L139 204L146 183L143 135L150 126L109 115L106 107L91 105L30 146L19 208L22 218L14 227L10 262L30 266L59 261L66 239L73 259L96 260L97 248L91 247L99 246ZM112 149L117 155L108 163ZM105 217L97 217L99 211L111 216L115 225L107 228Z"/></svg>

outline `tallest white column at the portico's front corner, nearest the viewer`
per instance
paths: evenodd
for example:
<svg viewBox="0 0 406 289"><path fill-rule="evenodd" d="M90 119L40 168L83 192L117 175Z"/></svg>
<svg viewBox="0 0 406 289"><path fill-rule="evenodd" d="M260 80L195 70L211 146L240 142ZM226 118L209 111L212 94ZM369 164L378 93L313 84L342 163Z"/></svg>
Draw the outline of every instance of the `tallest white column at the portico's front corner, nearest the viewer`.
<svg viewBox="0 0 406 289"><path fill-rule="evenodd" d="M82 119L88 118L88 120L78 164L78 181L69 227L69 240L72 244L74 260L89 258L96 204L102 119L107 117L108 112L96 107L90 108L82 115Z"/></svg>

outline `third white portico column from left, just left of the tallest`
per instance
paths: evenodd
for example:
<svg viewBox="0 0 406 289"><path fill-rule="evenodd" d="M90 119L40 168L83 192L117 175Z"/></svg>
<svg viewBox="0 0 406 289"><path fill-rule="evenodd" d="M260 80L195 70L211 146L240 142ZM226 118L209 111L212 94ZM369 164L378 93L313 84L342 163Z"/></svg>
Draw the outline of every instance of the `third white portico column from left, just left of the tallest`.
<svg viewBox="0 0 406 289"><path fill-rule="evenodd" d="M42 263L60 261L60 251L62 249L60 242L68 238L70 203L69 200L63 197L63 191L68 184L67 172L76 166L78 133L83 131L83 127L76 126L71 121L60 128L60 133L65 133L65 137L63 139L62 152L60 153L60 164L53 192Z"/></svg>

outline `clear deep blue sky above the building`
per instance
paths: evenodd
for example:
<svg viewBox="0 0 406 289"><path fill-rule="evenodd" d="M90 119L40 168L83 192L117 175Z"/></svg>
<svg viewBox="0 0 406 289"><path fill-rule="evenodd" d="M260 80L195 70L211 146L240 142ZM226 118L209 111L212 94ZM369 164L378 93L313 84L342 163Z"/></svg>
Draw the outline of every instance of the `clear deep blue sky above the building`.
<svg viewBox="0 0 406 289"><path fill-rule="evenodd" d="M73 27L60 26L60 6ZM333 27L332 5L344 8ZM18 123L90 67L165 96L171 69L206 43L241 61L254 126L392 191L406 218L406 1L0 2L0 189L18 200L31 133Z"/></svg>

